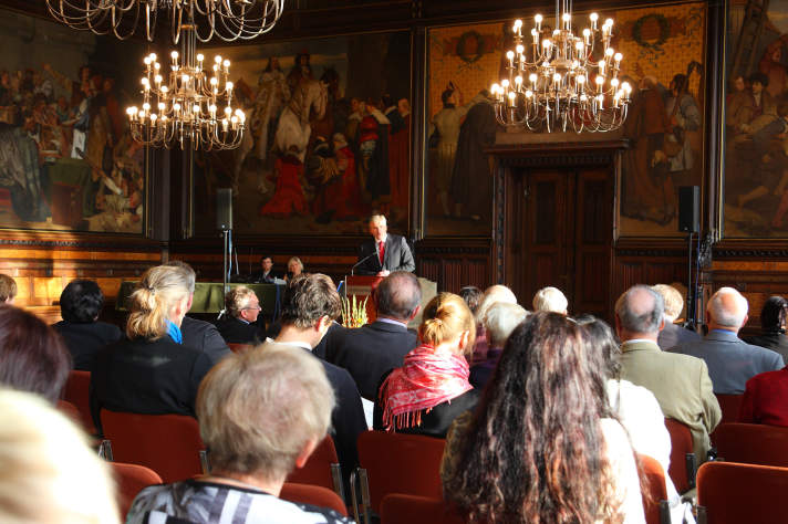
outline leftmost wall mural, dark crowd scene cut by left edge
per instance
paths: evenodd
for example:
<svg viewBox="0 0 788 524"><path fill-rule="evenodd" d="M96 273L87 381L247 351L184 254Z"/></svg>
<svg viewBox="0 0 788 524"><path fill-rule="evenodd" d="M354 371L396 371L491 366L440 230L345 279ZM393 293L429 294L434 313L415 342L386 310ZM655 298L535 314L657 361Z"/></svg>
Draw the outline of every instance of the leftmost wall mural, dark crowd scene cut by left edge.
<svg viewBox="0 0 788 524"><path fill-rule="evenodd" d="M141 233L136 84L117 56L143 46L0 10L0 228Z"/></svg>

